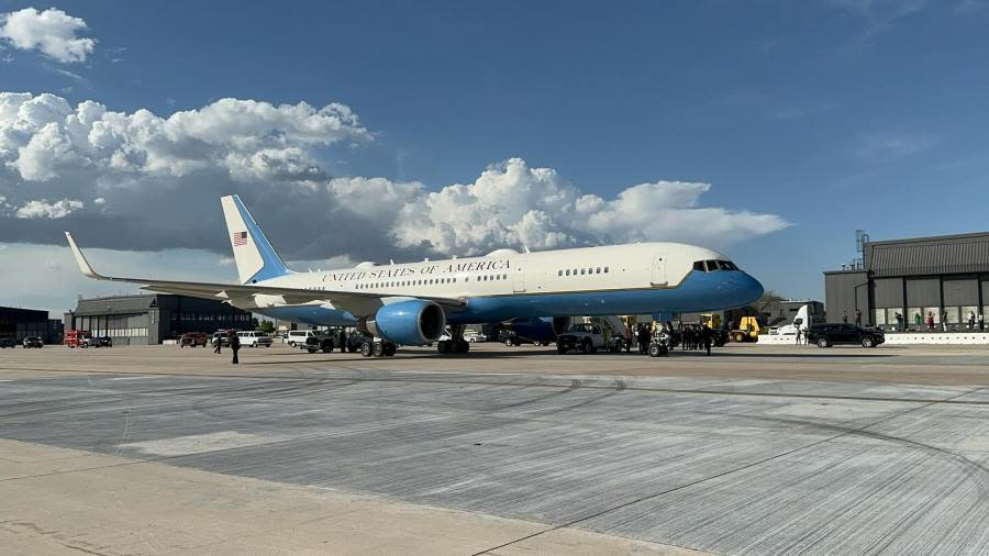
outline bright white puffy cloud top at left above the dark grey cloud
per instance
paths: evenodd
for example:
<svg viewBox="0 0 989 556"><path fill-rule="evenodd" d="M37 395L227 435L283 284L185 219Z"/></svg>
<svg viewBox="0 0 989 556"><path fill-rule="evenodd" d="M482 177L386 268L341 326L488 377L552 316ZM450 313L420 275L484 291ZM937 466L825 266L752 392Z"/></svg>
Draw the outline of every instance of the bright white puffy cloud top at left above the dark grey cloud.
<svg viewBox="0 0 989 556"><path fill-rule="evenodd" d="M322 176L312 148L370 140L356 114L336 103L222 99L162 118L93 101L71 107L51 93L0 92L0 163L29 181L84 169L124 180L211 168L236 180L312 179Z"/></svg>

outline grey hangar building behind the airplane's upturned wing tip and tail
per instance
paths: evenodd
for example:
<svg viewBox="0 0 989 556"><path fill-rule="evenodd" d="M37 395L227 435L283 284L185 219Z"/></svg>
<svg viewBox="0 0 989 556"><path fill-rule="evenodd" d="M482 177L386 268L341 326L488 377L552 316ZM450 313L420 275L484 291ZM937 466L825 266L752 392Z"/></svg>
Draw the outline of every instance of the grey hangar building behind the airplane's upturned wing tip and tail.
<svg viewBox="0 0 989 556"><path fill-rule="evenodd" d="M252 315L222 301L152 293L80 299L65 313L65 330L110 336L113 345L153 345L186 332L253 330Z"/></svg>

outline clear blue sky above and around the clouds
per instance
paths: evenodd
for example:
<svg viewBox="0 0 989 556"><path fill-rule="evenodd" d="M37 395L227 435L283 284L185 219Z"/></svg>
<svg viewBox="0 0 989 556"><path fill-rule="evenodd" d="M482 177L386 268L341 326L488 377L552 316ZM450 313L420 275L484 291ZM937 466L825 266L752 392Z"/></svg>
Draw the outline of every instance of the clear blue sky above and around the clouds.
<svg viewBox="0 0 989 556"><path fill-rule="evenodd" d="M64 10L97 42L73 63L4 45L0 91L163 118L222 98L340 102L374 140L313 146L318 166L425 190L512 157L603 199L710 184L703 207L790 223L715 242L786 296L823 298L821 271L854 256L857 227L877 240L989 227L982 2L0 1L0 13L26 7ZM30 200L30 180L9 180L7 197ZM262 224L268 209L254 209ZM0 242L54 243L25 230L0 227ZM357 254L296 258L333 256Z"/></svg>

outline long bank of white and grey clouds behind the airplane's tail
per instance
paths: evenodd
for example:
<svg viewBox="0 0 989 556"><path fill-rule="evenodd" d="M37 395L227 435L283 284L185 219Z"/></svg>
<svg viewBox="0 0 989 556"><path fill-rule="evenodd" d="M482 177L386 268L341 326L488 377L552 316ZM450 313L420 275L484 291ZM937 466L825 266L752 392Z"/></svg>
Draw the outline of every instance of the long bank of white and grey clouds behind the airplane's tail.
<svg viewBox="0 0 989 556"><path fill-rule="evenodd" d="M0 242L229 255L218 198L241 193L292 259L476 255L635 241L713 246L788 223L704 207L705 182L589 193L509 158L468 184L334 177L323 160L374 135L346 105L222 99L168 116L0 92ZM338 153L336 153L338 154Z"/></svg>

